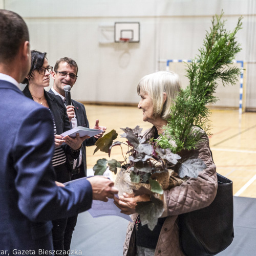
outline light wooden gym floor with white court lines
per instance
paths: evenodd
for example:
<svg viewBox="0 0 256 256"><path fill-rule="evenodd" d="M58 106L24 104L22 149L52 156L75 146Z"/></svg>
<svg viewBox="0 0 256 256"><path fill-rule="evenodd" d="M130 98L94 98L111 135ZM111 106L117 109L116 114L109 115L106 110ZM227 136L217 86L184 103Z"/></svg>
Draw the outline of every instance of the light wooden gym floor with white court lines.
<svg viewBox="0 0 256 256"><path fill-rule="evenodd" d="M106 132L112 129L120 138L120 127L134 128L139 125L143 130L152 124L143 122L142 111L135 106L86 105L90 127L95 120L106 126ZM217 172L233 181L233 195L256 198L256 113L238 111L212 110L210 116L212 129L210 147L217 166ZM87 165L93 168L100 158L108 158L108 154L96 152L95 146L87 147ZM124 154L126 148L123 147ZM111 158L122 161L119 146L113 148Z"/></svg>

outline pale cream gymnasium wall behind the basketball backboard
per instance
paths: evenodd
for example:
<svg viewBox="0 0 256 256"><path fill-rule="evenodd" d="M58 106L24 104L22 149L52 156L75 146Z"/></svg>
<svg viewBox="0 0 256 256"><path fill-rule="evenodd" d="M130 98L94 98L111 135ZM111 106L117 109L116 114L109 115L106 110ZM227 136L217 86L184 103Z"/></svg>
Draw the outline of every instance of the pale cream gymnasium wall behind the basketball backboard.
<svg viewBox="0 0 256 256"><path fill-rule="evenodd" d="M256 110L255 2L2 0L0 7L25 18L31 49L47 52L50 65L54 66L64 56L77 61L74 99L109 103L137 103L136 86L142 76L165 70L166 59L194 58L205 31L209 30L212 15L220 14L223 9L228 30L243 15L243 30L237 34L243 50L237 59L247 62L246 108ZM115 22L139 22L140 42L128 45L113 42ZM229 104L225 99L224 103Z"/></svg>

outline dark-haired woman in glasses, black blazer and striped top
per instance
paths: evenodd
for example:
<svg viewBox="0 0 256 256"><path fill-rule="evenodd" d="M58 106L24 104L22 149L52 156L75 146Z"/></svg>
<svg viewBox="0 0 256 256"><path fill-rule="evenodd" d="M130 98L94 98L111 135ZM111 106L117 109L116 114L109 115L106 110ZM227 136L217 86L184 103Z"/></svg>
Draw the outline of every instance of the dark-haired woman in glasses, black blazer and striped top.
<svg viewBox="0 0 256 256"><path fill-rule="evenodd" d="M50 74L53 67L49 66L46 53L31 51L31 69L28 76L22 82L27 84L23 93L28 98L44 105L52 113L54 123L55 151L52 158L52 165L56 173L57 182L67 182L71 180L71 169L67 161L67 155L76 159L79 156L80 148L84 139L88 138L62 138L59 134L72 129L66 106L59 96L51 94L45 90L50 84ZM62 145L65 142L65 145ZM44 145L42 145L44 146ZM54 209L53 209L54 210ZM55 250L63 250L63 237L67 219L53 221L53 245Z"/></svg>

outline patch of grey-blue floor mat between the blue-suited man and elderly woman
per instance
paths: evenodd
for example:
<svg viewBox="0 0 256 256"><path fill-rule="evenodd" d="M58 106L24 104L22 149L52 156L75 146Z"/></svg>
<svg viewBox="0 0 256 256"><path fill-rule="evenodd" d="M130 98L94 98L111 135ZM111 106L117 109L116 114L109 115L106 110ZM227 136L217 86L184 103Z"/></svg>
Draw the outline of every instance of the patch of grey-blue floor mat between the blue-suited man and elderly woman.
<svg viewBox="0 0 256 256"><path fill-rule="evenodd" d="M129 221L117 216L93 218L89 212L78 215L71 249L83 256L121 256Z"/></svg>

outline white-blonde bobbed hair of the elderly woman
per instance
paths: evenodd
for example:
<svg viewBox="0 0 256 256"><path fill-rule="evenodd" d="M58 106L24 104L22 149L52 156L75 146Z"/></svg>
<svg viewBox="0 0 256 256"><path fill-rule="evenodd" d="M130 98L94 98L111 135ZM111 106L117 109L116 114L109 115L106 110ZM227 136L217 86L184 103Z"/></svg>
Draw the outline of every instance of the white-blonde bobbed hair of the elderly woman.
<svg viewBox="0 0 256 256"><path fill-rule="evenodd" d="M170 71L158 71L141 78L137 86L137 92L148 94L153 102L154 117L160 116L168 119L170 106L175 104L175 99L181 90L178 74ZM164 101L163 93L166 93Z"/></svg>

